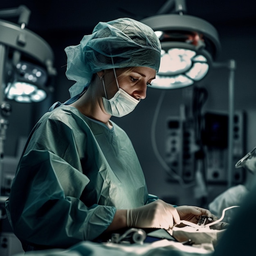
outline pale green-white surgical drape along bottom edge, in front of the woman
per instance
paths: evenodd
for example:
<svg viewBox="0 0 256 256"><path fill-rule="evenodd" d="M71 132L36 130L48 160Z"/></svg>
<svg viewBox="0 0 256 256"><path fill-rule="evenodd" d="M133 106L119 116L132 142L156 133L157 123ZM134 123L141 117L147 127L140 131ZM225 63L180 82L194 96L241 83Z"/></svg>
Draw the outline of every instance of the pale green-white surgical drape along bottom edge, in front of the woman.
<svg viewBox="0 0 256 256"><path fill-rule="evenodd" d="M183 245L166 239L154 243L138 244L115 244L115 243L92 243L90 241L81 242L68 250L45 250L27 252L26 256L212 256L213 247L211 244L196 246ZM16 256L22 256L18 254Z"/></svg>

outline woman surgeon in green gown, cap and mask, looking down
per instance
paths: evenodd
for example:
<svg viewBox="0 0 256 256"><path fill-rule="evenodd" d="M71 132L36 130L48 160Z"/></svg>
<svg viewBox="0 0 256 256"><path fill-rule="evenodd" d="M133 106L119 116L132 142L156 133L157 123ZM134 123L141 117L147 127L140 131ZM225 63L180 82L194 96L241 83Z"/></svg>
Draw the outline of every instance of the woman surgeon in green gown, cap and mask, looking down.
<svg viewBox="0 0 256 256"><path fill-rule="evenodd" d="M6 202L25 251L211 217L149 195L130 139L110 120L146 97L160 63L153 30L129 18L99 22L65 52L67 78L76 81L71 99L55 103L31 131Z"/></svg>

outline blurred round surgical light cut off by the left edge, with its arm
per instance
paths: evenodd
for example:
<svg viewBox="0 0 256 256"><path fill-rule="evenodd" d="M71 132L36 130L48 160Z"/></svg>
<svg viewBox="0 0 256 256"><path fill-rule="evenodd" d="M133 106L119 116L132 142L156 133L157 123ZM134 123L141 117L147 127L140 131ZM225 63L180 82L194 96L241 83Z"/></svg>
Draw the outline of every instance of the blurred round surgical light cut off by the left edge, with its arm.
<svg viewBox="0 0 256 256"><path fill-rule="evenodd" d="M23 5L0 10L0 18L20 16L18 25L0 20L1 101L40 102L52 91L54 55L43 38L25 28L29 15Z"/></svg>

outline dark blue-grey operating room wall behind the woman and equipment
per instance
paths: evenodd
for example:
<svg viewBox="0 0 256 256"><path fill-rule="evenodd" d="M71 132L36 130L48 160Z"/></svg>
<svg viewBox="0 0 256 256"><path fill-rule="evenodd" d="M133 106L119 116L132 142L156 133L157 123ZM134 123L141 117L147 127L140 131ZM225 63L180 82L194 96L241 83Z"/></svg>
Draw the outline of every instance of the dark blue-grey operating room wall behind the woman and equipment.
<svg viewBox="0 0 256 256"><path fill-rule="evenodd" d="M222 45L218 61L227 62L230 59L236 61L234 106L235 110L245 110L247 113L245 143L248 151L256 145L256 132L254 132L256 128L256 36L249 32L248 27L238 29L239 33L232 27L220 26L217 29ZM65 77L66 56L63 49L68 45L78 44L82 37L81 31L77 33L65 31L65 34L60 32L56 36L44 32L42 36L52 46L55 54L54 64L58 71L58 76L54 79L55 92L43 103L34 105L11 103L13 110L8 117L9 126L4 142L4 153L7 157L16 156L19 138L29 135L36 121L54 101L63 102L69 98L68 88L73 82ZM228 77L227 68L218 68L211 70L207 78L198 83L198 86L206 88L209 93L203 110L228 111ZM164 92L155 135L157 148L162 156L165 154L166 119L168 116L179 115L180 104L184 101L183 95L186 90L189 88ZM151 126L155 108L162 93L161 90L148 88L146 99L142 100L132 113L122 118L112 118L112 120L124 128L130 136L144 170L149 193L158 195L160 198L168 198L177 204L195 204L197 202L193 198L193 188L183 188L177 183L168 182L167 174L153 152L150 139ZM209 200L226 188L227 185L209 186Z"/></svg>

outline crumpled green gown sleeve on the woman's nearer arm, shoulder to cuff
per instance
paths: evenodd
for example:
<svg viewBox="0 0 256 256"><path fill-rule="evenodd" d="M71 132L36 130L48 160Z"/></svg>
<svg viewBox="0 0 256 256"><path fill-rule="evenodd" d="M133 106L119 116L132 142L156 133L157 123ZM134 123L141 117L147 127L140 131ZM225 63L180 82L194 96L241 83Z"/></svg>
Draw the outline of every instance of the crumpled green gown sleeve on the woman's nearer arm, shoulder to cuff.
<svg viewBox="0 0 256 256"><path fill-rule="evenodd" d="M79 150L72 128L47 121L32 133L6 202L14 234L30 245L60 248L97 238L112 222L116 208L86 206L80 200L90 180L75 161Z"/></svg>

